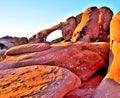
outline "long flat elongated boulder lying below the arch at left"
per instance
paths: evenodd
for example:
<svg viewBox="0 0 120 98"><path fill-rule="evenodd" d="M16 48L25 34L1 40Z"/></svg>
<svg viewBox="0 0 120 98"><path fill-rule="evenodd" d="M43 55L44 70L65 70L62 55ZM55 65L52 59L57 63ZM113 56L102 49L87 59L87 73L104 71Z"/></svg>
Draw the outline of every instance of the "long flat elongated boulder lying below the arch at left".
<svg viewBox="0 0 120 98"><path fill-rule="evenodd" d="M12 47L5 52L5 55L17 55L21 53L31 53L47 50L50 45L47 43L24 44Z"/></svg>

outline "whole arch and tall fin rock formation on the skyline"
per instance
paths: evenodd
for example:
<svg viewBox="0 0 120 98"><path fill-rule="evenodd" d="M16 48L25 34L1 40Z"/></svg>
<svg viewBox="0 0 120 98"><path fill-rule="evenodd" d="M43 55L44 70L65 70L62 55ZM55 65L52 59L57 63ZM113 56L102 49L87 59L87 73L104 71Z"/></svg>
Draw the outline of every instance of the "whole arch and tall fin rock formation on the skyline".
<svg viewBox="0 0 120 98"><path fill-rule="evenodd" d="M29 43L46 42L49 34L55 30L61 30L66 41L109 41L109 25L112 16L113 12L108 7L100 9L90 7L75 17L67 18L65 22L38 32L29 39Z"/></svg>

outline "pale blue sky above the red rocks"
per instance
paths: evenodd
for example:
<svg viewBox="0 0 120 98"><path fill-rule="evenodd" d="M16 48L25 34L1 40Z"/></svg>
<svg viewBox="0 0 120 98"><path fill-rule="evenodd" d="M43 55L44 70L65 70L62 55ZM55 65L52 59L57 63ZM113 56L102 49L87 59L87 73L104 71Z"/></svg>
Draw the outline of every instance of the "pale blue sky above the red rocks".
<svg viewBox="0 0 120 98"><path fill-rule="evenodd" d="M0 0L0 37L30 37L91 6L120 11L119 0Z"/></svg>

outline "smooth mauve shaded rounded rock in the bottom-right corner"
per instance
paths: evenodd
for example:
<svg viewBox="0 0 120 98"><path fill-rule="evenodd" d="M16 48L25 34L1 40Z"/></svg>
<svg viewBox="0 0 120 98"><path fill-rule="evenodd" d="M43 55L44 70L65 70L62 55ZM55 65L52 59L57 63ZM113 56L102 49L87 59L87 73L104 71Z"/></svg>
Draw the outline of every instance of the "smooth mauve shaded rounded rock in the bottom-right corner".
<svg viewBox="0 0 120 98"><path fill-rule="evenodd" d="M107 78L100 83L92 98L120 98L120 84Z"/></svg>

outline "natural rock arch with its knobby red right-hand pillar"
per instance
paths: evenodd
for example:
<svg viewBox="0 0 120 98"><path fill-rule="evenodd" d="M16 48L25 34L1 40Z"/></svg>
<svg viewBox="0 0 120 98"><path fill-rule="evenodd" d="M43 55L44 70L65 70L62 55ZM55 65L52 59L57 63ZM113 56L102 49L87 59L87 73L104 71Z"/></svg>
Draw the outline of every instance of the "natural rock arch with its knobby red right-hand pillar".
<svg viewBox="0 0 120 98"><path fill-rule="evenodd" d="M29 43L46 42L48 35L51 34L55 30L61 30L63 38L65 40L69 40L72 37L72 33L75 30L75 28L76 28L75 17L69 17L68 19L66 19L65 22L60 22L59 24L57 24L51 28L42 30L42 31L38 32L36 35L33 35L29 39Z"/></svg>

